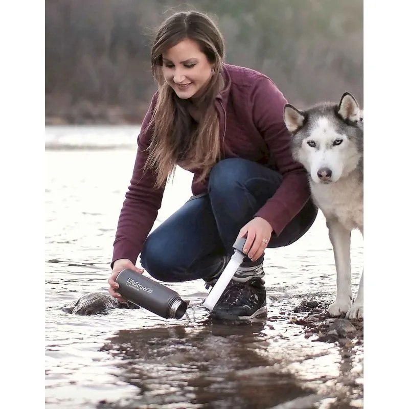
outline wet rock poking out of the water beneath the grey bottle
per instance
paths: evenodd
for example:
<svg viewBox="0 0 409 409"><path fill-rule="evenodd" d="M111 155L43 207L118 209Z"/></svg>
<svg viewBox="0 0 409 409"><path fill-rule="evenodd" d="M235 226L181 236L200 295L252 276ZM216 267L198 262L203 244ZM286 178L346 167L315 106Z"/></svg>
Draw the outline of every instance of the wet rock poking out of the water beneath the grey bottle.
<svg viewBox="0 0 409 409"><path fill-rule="evenodd" d="M119 303L116 298L102 292L89 292L67 307L65 312L78 315L93 315L106 313L110 308L140 308L132 303Z"/></svg>

